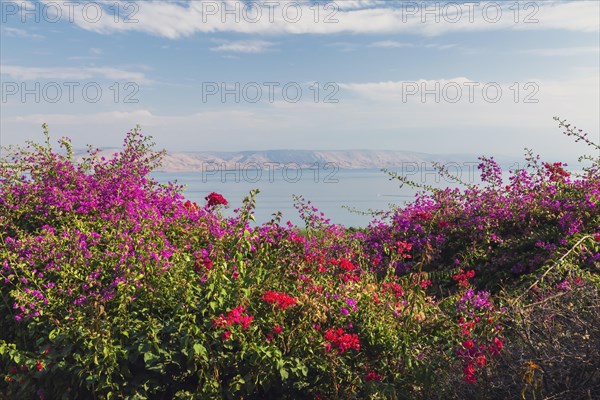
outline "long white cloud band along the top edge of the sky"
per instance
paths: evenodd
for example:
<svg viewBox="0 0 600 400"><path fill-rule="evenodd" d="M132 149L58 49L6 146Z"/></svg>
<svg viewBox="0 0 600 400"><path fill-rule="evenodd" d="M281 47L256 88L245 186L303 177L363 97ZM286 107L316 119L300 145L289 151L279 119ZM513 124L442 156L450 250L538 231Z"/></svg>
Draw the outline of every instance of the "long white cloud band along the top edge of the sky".
<svg viewBox="0 0 600 400"><path fill-rule="evenodd" d="M51 0L43 0L46 3ZM61 2L52 2L69 10ZM514 2L424 2L351 1L339 2L337 7L317 13L312 2L279 1L278 6L257 1L260 15L246 3L224 1L164 2L148 0L137 2L139 10L130 15L135 21L115 22L110 7L112 1L103 1L103 17L93 23L75 12L74 22L83 29L102 34L119 32L144 32L169 39L187 37L195 33L237 32L246 34L337 34L337 33L410 33L421 36L439 36L451 32L476 32L487 30L570 30L598 32L600 3L595 1L545 1L531 2L533 8L520 5L515 14ZM287 7L293 4L294 7ZM493 7L486 8L488 5ZM296 5L300 6L300 12ZM496 20L495 8L500 5L501 15ZM427 7L426 7L427 6ZM237 7L237 8L236 8ZM411 8L412 7L412 8ZM416 7L416 8L415 8ZM226 10L233 10L227 14ZM431 10L434 10L431 13ZM124 14L124 13L123 13ZM124 17L122 15L121 17ZM517 20L515 22L515 19ZM136 22L137 21L137 22Z"/></svg>

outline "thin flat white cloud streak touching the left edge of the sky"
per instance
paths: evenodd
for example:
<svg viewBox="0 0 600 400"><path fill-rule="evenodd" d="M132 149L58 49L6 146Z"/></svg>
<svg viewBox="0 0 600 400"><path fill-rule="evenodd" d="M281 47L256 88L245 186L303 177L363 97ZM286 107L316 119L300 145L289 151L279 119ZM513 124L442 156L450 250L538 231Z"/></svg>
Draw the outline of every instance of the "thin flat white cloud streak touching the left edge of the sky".
<svg viewBox="0 0 600 400"><path fill-rule="evenodd" d="M81 80L92 78L103 78L117 81L131 81L138 84L150 83L151 81L142 72L127 71L113 67L23 67L19 65L2 65L2 75L13 79L32 81L43 79Z"/></svg>

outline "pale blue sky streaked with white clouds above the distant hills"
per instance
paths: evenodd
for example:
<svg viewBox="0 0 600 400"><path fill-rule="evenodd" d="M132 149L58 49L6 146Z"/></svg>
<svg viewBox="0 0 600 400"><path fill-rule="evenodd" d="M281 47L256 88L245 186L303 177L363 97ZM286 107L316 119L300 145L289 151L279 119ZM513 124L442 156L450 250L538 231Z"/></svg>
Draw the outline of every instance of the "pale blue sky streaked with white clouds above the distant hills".
<svg viewBox="0 0 600 400"><path fill-rule="evenodd" d="M600 2L1 1L0 143L571 160L600 138Z"/></svg>

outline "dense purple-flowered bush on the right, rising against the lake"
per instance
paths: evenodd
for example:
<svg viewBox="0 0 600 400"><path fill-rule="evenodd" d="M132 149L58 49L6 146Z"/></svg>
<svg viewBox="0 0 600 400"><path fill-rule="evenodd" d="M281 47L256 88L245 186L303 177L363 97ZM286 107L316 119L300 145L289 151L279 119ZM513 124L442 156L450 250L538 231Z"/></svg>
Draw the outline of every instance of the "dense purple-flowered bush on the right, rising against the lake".
<svg viewBox="0 0 600 400"><path fill-rule="evenodd" d="M598 150L580 131L558 120L565 133ZM563 163L540 163L527 157L527 169L512 171L508 182L493 158L481 158L482 185L435 189L390 173L405 184L428 189L404 208L385 213L367 230L366 252L372 260L394 262L398 273L418 269L449 274L477 274L478 288L498 289L502 282L535 273L567 251L577 235L600 230L600 162L574 175ZM447 174L442 167L440 173ZM393 257L398 241L412 245L409 259ZM595 268L600 254L587 252L585 264ZM464 279L455 279L464 284ZM446 285L447 286L447 285Z"/></svg>

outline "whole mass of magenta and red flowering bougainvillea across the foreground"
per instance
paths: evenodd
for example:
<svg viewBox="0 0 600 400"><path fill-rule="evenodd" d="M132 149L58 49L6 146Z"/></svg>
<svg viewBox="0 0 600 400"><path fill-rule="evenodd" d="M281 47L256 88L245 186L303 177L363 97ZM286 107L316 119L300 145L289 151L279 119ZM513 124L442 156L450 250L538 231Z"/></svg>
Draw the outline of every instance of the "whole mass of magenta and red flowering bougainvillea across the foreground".
<svg viewBox="0 0 600 400"><path fill-rule="evenodd" d="M226 218L234 199L151 179L152 146L135 129L108 159L74 160L67 139L6 149L0 397L539 397L556 361L522 328L561 293L598 306L595 159L507 184L484 159L488 186L422 193L356 230L301 197L305 227L256 225L257 192Z"/></svg>

